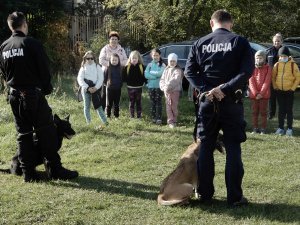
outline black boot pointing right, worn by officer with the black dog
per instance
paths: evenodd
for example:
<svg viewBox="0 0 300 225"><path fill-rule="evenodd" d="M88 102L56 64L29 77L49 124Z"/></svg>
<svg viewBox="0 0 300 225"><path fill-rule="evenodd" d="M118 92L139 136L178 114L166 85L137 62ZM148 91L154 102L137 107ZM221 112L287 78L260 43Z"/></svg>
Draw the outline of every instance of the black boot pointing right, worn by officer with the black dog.
<svg viewBox="0 0 300 225"><path fill-rule="evenodd" d="M77 178L79 175L76 170L68 170L62 166L50 167L49 164L45 164L45 168L49 179L69 180Z"/></svg>

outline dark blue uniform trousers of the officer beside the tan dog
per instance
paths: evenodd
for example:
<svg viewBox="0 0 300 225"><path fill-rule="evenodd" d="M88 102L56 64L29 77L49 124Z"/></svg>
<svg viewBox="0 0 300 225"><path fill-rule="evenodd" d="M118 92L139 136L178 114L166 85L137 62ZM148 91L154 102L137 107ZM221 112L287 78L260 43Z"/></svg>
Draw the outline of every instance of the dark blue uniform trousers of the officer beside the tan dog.
<svg viewBox="0 0 300 225"><path fill-rule="evenodd" d="M225 97L221 102L208 100L200 102L198 134L201 139L201 147L197 161L198 193L204 199L212 198L215 191L213 154L220 129L223 130L226 148L227 201L232 204L239 201L243 195L241 185L244 168L241 159L241 142L246 140L246 122L243 115L243 103L235 103L230 97Z"/></svg>

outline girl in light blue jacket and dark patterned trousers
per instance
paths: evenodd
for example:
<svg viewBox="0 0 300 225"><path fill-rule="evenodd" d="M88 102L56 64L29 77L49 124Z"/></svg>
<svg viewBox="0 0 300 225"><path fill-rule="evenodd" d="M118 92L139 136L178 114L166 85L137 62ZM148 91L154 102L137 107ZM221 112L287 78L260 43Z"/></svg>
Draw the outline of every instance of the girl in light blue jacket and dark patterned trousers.
<svg viewBox="0 0 300 225"><path fill-rule="evenodd" d="M161 75L166 67L160 57L160 50L153 49L151 51L152 62L149 63L145 70L145 78L148 80L148 93L150 98L150 110L152 122L160 125L162 123L162 95L163 92L159 88Z"/></svg>

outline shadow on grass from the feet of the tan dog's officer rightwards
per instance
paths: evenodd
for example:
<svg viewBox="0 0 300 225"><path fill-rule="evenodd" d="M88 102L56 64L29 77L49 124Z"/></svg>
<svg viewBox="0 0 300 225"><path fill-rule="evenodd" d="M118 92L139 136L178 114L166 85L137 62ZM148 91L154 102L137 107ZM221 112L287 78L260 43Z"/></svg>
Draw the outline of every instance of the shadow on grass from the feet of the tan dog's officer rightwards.
<svg viewBox="0 0 300 225"><path fill-rule="evenodd" d="M226 200L214 199L210 204L201 204L197 200L191 200L187 208L200 208L208 213L217 215L225 214L236 219L247 219L255 217L265 219L271 222L299 223L300 206L289 205L285 203L255 203L250 202L247 206L230 208ZM291 216L292 215L292 216Z"/></svg>

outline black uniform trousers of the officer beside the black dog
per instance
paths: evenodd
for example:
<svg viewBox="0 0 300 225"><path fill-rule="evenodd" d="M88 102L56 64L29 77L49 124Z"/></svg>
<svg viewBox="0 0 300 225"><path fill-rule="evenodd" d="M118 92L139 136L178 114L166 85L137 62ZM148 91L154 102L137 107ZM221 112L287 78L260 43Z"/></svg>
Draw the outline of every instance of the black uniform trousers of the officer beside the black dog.
<svg viewBox="0 0 300 225"><path fill-rule="evenodd" d="M19 133L17 142L23 172L31 172L35 168L33 133L36 134L47 164L52 168L61 167L57 152L57 130L44 94L36 88L10 89L9 103Z"/></svg>

